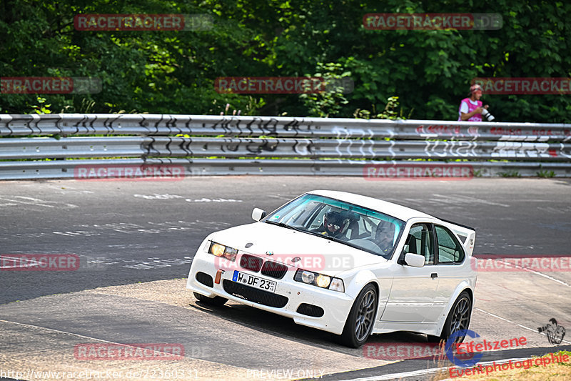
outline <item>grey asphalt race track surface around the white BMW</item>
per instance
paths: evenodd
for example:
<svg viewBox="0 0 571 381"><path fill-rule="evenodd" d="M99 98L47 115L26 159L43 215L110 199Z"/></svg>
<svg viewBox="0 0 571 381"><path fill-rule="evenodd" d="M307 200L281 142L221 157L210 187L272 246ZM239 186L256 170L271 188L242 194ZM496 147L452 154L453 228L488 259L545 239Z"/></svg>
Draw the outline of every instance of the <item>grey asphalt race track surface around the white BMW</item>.
<svg viewBox="0 0 571 381"><path fill-rule="evenodd" d="M166 377L168 369L221 380L390 379L395 374L405 380L427 379L426 373L407 372L441 367L442 361L379 360L283 317L236 303L201 305L184 289L182 278L208 233L249 223L253 207L270 211L312 189L365 194L475 227L475 254L571 254L570 180L192 177L176 182L2 182L0 254L77 254L80 266L69 272L0 269L0 372L155 367L163 377L148 379L180 379ZM488 353L482 360L550 352L552 345L537 327L552 317L571 327L570 274L480 273L470 329L480 340L527 338L525 347ZM422 335L398 332L373 335L369 343L423 340ZM567 340L562 345L568 347ZM74 345L86 342L180 343L186 351L183 360L151 365L77 361ZM292 377L281 377L288 370Z"/></svg>

